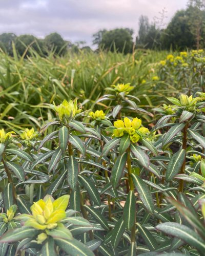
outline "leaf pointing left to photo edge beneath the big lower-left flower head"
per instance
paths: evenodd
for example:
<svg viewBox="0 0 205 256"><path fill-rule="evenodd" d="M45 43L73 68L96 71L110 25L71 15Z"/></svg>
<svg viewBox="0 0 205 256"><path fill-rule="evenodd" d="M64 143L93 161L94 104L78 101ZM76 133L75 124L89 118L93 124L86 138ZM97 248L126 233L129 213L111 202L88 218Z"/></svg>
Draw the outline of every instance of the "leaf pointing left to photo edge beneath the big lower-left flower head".
<svg viewBox="0 0 205 256"><path fill-rule="evenodd" d="M1 238L0 242L11 243L23 240L25 238L34 238L39 233L39 230L32 227L21 227L9 230Z"/></svg>

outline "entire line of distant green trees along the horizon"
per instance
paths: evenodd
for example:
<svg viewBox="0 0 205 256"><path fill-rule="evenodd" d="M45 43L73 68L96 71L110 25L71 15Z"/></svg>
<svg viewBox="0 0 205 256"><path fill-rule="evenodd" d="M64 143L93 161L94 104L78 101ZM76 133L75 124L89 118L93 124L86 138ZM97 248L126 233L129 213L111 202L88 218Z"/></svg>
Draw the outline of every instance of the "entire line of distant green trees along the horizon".
<svg viewBox="0 0 205 256"><path fill-rule="evenodd" d="M163 16L163 15L162 15ZM162 17L163 19L163 17ZM149 22L147 16L139 18L138 35L133 39L134 30L117 28L100 30L93 34L93 45L98 49L130 53L134 49L186 50L205 47L205 0L189 0L187 8L175 13L166 28L160 28L157 22ZM13 44L14 43L14 44ZM68 49L78 52L79 49L91 51L85 41L72 44L64 40L58 33L51 33L44 39L33 35L16 36L14 33L0 35L0 48L9 55L13 54L13 46L20 55L29 55L27 48L34 49L40 55L64 55Z"/></svg>

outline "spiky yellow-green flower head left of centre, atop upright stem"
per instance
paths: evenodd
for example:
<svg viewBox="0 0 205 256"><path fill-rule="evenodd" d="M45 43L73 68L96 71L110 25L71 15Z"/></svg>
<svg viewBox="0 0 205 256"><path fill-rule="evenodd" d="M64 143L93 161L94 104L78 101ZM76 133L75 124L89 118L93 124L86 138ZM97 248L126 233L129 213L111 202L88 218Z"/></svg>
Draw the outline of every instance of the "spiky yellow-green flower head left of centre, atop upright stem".
<svg viewBox="0 0 205 256"><path fill-rule="evenodd" d="M68 121L73 118L76 114L80 113L81 110L77 108L77 99L70 100L69 102L65 99L63 103L59 106L56 106L53 102L54 110L57 112L60 121L63 121L64 118Z"/></svg>

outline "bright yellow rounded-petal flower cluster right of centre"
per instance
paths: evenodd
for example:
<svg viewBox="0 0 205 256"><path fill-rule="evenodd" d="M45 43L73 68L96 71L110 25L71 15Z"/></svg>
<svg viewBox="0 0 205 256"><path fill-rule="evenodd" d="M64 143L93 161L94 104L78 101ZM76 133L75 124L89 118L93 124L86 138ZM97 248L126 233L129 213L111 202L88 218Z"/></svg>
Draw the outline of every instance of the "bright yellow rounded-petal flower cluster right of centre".
<svg viewBox="0 0 205 256"><path fill-rule="evenodd" d="M137 117L133 120L130 120L128 117L124 118L124 121L117 120L114 122L113 135L115 137L122 137L124 134L130 135L130 140L135 143L140 137L145 136L149 133L149 130L146 127L141 126L141 119Z"/></svg>

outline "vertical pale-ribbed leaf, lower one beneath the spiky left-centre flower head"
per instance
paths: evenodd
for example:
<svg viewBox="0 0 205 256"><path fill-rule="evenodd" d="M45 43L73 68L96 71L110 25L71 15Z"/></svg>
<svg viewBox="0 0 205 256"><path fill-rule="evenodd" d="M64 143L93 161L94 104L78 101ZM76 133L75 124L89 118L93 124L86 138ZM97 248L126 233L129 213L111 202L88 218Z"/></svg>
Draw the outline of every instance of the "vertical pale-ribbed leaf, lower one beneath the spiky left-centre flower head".
<svg viewBox="0 0 205 256"><path fill-rule="evenodd" d="M72 190L76 189L77 175L78 175L78 162L74 156L70 156L68 160L68 184Z"/></svg>

